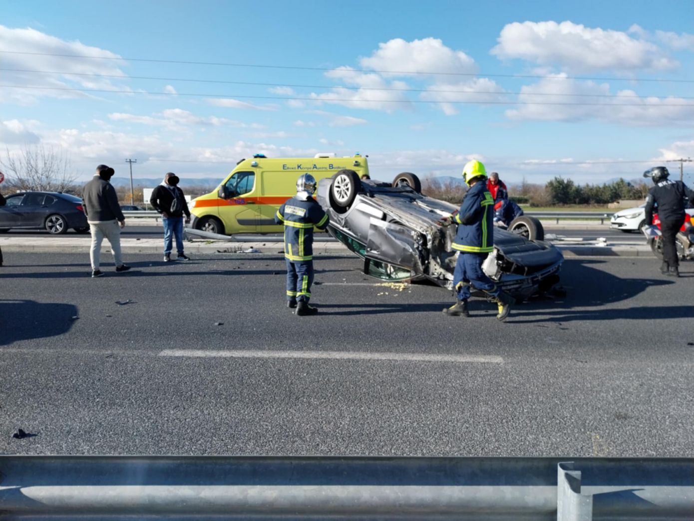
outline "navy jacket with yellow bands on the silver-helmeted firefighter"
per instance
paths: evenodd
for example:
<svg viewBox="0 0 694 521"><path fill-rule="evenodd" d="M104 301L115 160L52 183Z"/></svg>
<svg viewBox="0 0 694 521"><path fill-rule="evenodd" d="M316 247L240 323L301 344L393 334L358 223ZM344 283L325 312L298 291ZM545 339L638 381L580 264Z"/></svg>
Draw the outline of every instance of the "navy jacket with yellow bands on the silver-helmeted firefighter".
<svg viewBox="0 0 694 521"><path fill-rule="evenodd" d="M292 262L311 261L313 227L324 230L328 214L313 197L306 201L292 197L277 210L275 222L285 225L285 258Z"/></svg>

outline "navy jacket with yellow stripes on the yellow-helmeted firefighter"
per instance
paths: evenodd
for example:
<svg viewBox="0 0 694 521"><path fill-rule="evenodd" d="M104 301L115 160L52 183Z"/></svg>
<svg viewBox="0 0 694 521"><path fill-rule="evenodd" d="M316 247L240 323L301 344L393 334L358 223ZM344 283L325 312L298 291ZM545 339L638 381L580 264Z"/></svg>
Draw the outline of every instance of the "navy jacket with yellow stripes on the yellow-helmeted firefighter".
<svg viewBox="0 0 694 521"><path fill-rule="evenodd" d="M494 199L484 181L465 194L455 222L459 224L451 247L467 254L486 254L494 249Z"/></svg>

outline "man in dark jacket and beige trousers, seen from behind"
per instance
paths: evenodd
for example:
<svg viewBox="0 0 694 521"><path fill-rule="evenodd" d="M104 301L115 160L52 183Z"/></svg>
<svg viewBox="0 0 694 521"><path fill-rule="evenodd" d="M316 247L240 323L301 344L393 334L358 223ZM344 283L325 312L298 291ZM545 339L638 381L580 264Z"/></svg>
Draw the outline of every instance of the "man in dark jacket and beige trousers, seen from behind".
<svg viewBox="0 0 694 521"><path fill-rule="evenodd" d="M92 181L87 183L82 190L85 214L92 232L92 277L103 275L99 270L99 256L101 255L101 242L107 238L111 244L113 260L116 263L116 272L127 272L130 266L123 263L121 257L121 231L125 228L126 218L118 204L118 196L113 185L109 182L115 174L115 170L106 165L96 167L96 174Z"/></svg>

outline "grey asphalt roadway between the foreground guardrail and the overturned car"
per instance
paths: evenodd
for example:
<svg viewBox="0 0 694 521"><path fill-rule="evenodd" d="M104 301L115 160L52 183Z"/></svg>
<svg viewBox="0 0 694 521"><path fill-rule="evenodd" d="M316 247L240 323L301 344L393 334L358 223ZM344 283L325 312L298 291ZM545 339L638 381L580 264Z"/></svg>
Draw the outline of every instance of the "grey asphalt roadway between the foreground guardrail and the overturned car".
<svg viewBox="0 0 694 521"><path fill-rule="evenodd" d="M317 258L316 317L280 256L126 261L0 268L0 453L694 456L694 263L568 260L500 324L352 257Z"/></svg>

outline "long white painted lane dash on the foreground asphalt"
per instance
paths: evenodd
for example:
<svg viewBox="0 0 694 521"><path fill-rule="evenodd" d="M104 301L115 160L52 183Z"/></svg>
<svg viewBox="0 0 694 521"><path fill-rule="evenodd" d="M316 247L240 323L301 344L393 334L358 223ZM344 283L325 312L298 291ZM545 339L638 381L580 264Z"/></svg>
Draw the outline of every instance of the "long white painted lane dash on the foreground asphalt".
<svg viewBox="0 0 694 521"><path fill-rule="evenodd" d="M452 363L504 363L501 356L456 355L426 353L366 353L339 351L264 351L264 350L212 350L212 349L164 349L159 356L184 358L305 358L327 360L378 360L405 362Z"/></svg>

